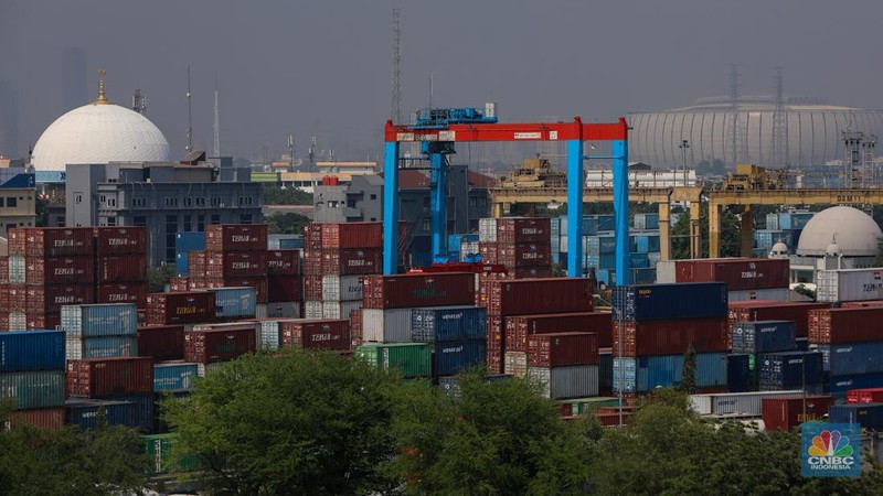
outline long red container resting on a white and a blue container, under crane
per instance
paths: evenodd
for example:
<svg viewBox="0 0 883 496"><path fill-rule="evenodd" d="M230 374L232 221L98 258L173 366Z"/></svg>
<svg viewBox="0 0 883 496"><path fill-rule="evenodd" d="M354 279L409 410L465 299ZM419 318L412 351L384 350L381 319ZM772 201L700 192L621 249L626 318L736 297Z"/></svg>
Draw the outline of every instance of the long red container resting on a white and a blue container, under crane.
<svg viewBox="0 0 883 496"><path fill-rule="evenodd" d="M415 306L471 305L475 274L466 272L365 276L362 306L411 309Z"/></svg>

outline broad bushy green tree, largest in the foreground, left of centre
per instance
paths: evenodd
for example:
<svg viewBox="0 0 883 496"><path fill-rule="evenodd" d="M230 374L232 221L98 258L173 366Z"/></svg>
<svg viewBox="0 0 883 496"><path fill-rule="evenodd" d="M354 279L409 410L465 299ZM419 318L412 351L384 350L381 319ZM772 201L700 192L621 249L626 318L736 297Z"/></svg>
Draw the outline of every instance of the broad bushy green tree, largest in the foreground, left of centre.
<svg viewBox="0 0 883 496"><path fill-rule="evenodd" d="M377 468L395 455L397 385L334 353L251 355L198 380L167 420L220 494L383 492L391 485Z"/></svg>

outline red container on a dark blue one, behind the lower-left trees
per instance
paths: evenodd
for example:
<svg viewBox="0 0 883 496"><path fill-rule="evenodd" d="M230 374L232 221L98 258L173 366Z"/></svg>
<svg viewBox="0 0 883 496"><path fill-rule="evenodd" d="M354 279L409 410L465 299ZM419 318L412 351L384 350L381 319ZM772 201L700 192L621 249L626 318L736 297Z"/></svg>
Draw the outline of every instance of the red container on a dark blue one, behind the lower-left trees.
<svg viewBox="0 0 883 496"><path fill-rule="evenodd" d="M68 422L98 427L104 409L109 424L141 430L153 425L153 360L147 357L67 360Z"/></svg>

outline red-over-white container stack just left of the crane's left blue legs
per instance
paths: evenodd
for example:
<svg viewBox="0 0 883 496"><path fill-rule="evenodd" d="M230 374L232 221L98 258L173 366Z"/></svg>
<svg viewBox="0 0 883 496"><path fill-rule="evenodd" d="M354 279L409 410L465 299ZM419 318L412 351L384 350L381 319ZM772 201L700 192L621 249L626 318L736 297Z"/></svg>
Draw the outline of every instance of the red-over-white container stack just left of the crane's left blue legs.
<svg viewBox="0 0 883 496"><path fill-rule="evenodd" d="M383 270L383 224L308 224L304 238L304 315L349 319L361 308L361 278Z"/></svg>

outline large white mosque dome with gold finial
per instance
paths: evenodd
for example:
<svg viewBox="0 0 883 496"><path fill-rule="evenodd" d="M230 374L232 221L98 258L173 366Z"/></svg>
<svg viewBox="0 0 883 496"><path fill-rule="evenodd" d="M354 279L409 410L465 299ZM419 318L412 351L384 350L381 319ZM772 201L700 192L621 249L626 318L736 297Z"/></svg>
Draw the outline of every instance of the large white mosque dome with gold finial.
<svg viewBox="0 0 883 496"><path fill-rule="evenodd" d="M68 163L168 162L166 137L145 116L104 97L75 108L52 122L34 145L31 165L64 171Z"/></svg>

